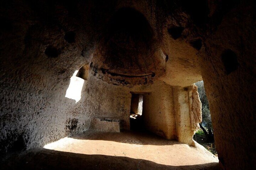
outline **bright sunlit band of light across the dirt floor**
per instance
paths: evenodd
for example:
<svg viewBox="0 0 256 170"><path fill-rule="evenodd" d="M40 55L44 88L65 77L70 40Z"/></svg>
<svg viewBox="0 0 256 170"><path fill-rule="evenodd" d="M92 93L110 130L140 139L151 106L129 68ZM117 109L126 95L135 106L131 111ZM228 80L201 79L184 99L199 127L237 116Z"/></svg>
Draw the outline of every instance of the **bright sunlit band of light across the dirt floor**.
<svg viewBox="0 0 256 170"><path fill-rule="evenodd" d="M129 139L128 137L127 140ZM87 155L125 156L174 166L218 162L216 158L202 154L203 152L198 151L198 148L179 144L176 141L165 141L169 145L130 144L108 140L62 138L59 141L46 144L44 148Z"/></svg>

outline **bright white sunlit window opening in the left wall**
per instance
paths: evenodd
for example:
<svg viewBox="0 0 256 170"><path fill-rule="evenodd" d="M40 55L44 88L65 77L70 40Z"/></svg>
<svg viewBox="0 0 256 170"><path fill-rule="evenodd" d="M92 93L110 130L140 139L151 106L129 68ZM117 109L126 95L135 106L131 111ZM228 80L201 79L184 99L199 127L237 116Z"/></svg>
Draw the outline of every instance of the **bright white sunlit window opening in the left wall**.
<svg viewBox="0 0 256 170"><path fill-rule="evenodd" d="M85 82L85 80L76 76L77 73L78 70L75 70L75 73L70 78L69 88L67 89L65 95L65 97L75 100L75 103L81 99L81 92Z"/></svg>

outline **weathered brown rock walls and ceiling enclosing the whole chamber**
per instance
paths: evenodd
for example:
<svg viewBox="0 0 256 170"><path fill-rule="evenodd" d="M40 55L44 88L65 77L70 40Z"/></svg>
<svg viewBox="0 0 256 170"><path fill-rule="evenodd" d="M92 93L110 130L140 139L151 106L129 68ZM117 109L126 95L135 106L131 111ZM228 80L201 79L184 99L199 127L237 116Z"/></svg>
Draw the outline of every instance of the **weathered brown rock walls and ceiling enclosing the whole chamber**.
<svg viewBox="0 0 256 170"><path fill-rule="evenodd" d="M132 93L144 95L148 130L196 146L201 113L193 83L203 79L222 167L255 167L255 6L2 2L1 154L93 130L95 118L118 118L120 129L130 129ZM67 95L72 84L78 94Z"/></svg>

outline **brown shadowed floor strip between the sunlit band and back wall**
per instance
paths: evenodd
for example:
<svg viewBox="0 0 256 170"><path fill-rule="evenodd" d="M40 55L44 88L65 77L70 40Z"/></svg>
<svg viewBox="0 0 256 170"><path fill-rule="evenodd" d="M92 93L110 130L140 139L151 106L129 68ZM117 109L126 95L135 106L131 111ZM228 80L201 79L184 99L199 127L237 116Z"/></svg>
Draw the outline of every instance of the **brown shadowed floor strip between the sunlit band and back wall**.
<svg viewBox="0 0 256 170"><path fill-rule="evenodd" d="M87 131L80 134L75 134L69 138L80 140L102 140L114 141L127 144L141 145L174 145L180 144L175 140L167 140L161 136L153 134L149 131L122 131L122 132L92 132Z"/></svg>

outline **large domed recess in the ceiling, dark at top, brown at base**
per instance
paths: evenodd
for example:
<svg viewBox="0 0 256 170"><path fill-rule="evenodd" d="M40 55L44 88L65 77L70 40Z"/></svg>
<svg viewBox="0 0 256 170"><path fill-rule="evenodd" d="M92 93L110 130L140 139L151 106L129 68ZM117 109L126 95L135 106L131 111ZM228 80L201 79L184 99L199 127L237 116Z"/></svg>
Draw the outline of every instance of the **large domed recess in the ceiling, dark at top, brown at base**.
<svg viewBox="0 0 256 170"><path fill-rule="evenodd" d="M111 78L151 79L164 73L165 56L146 18L133 8L121 8L107 23L93 67Z"/></svg>

